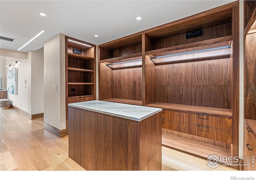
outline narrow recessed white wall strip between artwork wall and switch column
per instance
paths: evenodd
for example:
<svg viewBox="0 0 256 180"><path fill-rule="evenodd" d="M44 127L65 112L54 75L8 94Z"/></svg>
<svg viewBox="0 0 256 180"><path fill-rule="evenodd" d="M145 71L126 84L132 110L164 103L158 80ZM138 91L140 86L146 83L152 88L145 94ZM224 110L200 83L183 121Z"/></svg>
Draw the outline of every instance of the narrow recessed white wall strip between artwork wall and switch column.
<svg viewBox="0 0 256 180"><path fill-rule="evenodd" d="M44 48L31 53L31 114L39 114L44 112Z"/></svg>

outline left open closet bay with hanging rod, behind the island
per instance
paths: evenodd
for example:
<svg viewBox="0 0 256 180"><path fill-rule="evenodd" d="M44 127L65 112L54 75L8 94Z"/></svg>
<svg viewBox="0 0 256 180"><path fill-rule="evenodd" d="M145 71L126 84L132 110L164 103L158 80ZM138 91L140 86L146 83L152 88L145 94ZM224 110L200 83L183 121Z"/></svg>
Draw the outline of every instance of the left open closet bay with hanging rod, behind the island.
<svg viewBox="0 0 256 180"><path fill-rule="evenodd" d="M142 105L142 35L99 46L99 99Z"/></svg>

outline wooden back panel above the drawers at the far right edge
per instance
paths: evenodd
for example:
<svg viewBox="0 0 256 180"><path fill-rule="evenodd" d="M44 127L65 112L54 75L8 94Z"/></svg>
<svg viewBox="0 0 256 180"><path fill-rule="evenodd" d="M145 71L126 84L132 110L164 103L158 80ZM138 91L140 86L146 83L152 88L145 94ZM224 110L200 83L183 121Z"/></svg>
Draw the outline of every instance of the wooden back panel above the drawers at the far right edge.
<svg viewBox="0 0 256 180"><path fill-rule="evenodd" d="M256 120L256 33L247 34L244 63L244 117Z"/></svg>

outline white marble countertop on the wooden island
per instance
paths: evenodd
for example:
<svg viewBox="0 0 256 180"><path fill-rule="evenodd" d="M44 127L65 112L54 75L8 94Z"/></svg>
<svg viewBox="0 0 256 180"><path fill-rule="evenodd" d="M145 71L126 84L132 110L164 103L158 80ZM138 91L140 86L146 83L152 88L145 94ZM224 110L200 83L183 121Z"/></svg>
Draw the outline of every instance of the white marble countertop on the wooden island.
<svg viewBox="0 0 256 180"><path fill-rule="evenodd" d="M162 111L161 108L152 108L147 106L137 106L132 104L123 104L99 100L70 103L68 104L68 106L135 121L142 121Z"/></svg>

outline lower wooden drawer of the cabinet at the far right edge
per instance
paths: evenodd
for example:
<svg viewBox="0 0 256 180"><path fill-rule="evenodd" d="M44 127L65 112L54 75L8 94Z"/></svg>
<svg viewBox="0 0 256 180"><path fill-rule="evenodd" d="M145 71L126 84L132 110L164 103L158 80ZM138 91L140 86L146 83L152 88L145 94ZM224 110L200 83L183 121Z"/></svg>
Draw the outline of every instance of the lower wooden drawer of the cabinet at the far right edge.
<svg viewBox="0 0 256 180"><path fill-rule="evenodd" d="M244 138L244 163L250 163L250 166L244 166L244 170L256 170L255 167L255 151L252 150L250 147L252 144L250 144L246 138ZM254 161L253 161L254 159ZM252 167L254 163L254 167Z"/></svg>

